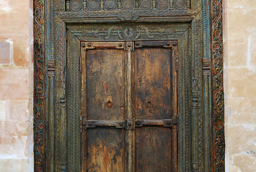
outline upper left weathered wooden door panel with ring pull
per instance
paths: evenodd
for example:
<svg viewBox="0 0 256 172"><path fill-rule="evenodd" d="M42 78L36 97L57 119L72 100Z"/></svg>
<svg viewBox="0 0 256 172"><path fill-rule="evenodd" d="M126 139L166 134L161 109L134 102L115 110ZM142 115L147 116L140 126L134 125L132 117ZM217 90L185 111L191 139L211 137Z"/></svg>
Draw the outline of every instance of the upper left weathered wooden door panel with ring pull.
<svg viewBox="0 0 256 172"><path fill-rule="evenodd" d="M89 49L86 57L87 119L123 120L123 49Z"/></svg>

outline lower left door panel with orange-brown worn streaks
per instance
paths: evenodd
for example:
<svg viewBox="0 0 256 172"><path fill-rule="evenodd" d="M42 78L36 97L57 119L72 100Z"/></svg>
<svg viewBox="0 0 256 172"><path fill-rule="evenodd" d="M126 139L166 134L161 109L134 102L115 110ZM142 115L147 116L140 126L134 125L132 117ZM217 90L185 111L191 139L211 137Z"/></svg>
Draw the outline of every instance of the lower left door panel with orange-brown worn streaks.
<svg viewBox="0 0 256 172"><path fill-rule="evenodd" d="M124 133L121 129L87 129L87 171L124 171Z"/></svg>

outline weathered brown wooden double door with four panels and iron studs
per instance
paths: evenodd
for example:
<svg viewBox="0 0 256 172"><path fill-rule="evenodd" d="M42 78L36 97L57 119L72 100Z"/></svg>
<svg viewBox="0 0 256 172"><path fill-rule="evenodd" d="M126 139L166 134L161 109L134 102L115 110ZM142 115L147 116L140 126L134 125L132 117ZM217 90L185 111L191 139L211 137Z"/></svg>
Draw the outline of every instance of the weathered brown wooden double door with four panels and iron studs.
<svg viewBox="0 0 256 172"><path fill-rule="evenodd" d="M176 57L177 41L81 42L81 171L177 171Z"/></svg>

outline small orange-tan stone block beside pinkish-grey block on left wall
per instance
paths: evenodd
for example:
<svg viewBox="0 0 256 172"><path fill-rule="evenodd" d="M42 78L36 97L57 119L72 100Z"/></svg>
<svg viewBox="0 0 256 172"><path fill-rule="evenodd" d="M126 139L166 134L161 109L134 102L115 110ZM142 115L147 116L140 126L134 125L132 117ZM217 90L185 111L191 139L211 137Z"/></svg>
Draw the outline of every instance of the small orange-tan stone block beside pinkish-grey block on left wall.
<svg viewBox="0 0 256 172"><path fill-rule="evenodd" d="M14 64L16 66L29 66L29 43L14 43Z"/></svg>

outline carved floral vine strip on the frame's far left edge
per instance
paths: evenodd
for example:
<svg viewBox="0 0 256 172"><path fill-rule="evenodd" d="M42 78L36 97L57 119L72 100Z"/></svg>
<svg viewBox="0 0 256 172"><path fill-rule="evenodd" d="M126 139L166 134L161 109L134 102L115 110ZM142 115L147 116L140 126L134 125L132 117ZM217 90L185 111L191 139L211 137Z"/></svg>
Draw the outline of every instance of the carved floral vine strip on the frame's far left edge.
<svg viewBox="0 0 256 172"><path fill-rule="evenodd" d="M44 43L42 0L34 0L34 171L45 170Z"/></svg>

